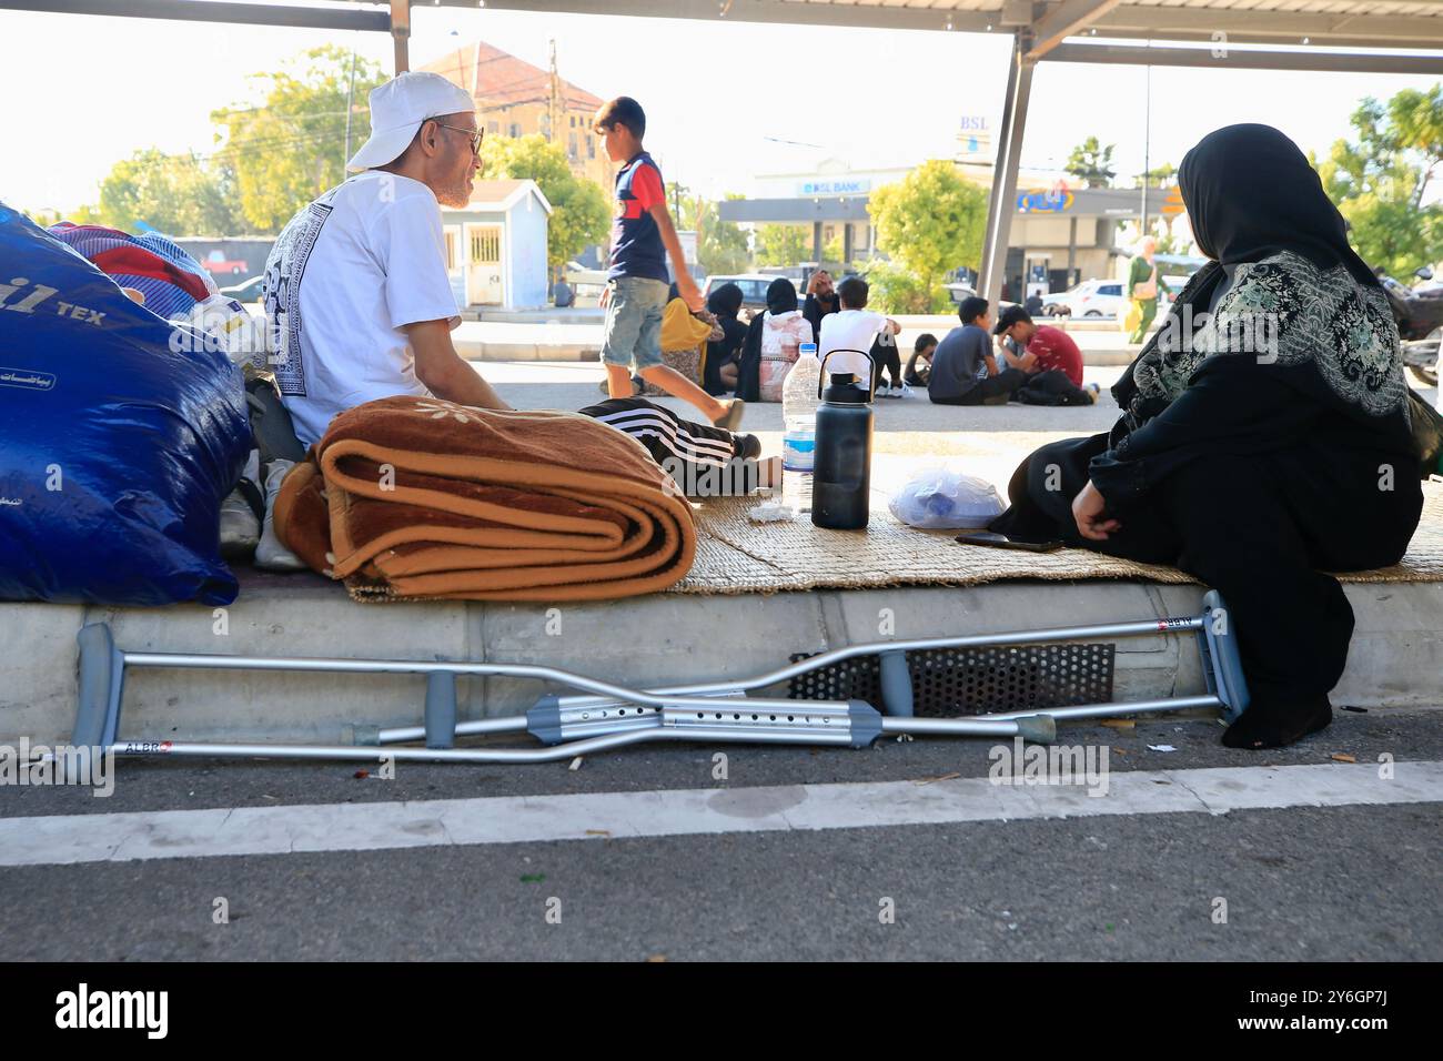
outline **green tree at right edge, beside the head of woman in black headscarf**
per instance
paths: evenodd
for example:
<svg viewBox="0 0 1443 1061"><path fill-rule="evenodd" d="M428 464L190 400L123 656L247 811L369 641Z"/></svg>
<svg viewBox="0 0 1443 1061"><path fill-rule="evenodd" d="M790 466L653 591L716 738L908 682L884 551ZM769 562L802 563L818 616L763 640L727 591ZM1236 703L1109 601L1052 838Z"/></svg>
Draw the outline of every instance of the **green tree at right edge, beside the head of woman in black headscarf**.
<svg viewBox="0 0 1443 1061"><path fill-rule="evenodd" d="M1407 279L1443 257L1443 204L1423 201L1443 163L1443 84L1405 88L1387 102L1367 97L1352 115L1355 140L1319 162L1323 189L1351 225L1369 266Z"/></svg>

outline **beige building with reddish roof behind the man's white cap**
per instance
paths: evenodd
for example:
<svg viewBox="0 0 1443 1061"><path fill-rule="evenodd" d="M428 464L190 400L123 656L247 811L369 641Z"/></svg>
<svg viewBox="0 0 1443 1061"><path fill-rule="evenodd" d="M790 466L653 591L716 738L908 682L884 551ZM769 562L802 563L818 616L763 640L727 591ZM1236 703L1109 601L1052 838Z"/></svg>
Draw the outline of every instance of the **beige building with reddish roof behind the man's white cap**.
<svg viewBox="0 0 1443 1061"><path fill-rule="evenodd" d="M605 100L563 81L499 48L478 40L421 69L440 74L470 92L486 136L540 133L566 152L571 172L595 180L608 193L616 179L610 160L592 133L592 117Z"/></svg>

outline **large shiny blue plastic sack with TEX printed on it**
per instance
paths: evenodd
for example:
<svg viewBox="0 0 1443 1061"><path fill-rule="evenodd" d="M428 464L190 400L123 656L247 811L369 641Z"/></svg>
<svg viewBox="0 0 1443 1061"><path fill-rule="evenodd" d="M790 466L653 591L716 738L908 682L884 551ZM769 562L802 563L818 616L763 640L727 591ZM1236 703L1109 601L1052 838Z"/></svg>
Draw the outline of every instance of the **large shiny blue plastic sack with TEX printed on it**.
<svg viewBox="0 0 1443 1061"><path fill-rule="evenodd" d="M241 370L0 204L0 599L235 599Z"/></svg>

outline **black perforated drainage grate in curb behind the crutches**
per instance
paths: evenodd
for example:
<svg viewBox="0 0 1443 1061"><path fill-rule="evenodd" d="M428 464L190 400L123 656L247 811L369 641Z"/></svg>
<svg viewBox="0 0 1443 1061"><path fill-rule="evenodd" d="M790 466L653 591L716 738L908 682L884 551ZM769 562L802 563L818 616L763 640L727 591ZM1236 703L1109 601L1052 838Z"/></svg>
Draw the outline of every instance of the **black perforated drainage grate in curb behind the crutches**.
<svg viewBox="0 0 1443 1061"><path fill-rule="evenodd" d="M918 717L1111 703L1117 645L990 645L908 652ZM792 663L814 652L797 652ZM792 700L866 700L882 709L880 660L861 655L792 678Z"/></svg>

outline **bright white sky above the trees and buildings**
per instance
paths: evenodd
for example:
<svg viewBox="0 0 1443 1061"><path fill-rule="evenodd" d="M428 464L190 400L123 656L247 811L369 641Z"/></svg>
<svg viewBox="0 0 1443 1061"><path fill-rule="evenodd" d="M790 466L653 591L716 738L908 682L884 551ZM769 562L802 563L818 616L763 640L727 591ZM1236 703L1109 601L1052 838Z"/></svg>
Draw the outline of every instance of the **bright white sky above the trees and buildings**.
<svg viewBox="0 0 1443 1061"><path fill-rule="evenodd" d="M1006 87L1007 40L988 35L416 6L413 65L476 39L543 68L556 39L561 77L641 100L667 179L713 196L828 156L857 169L951 157L961 117L994 127ZM255 101L247 75L326 42L391 69L381 33L0 12L0 199L72 209L140 147L208 152L209 113ZM1274 124L1325 154L1362 97L1437 81L1157 66L1150 165L1176 165L1235 121ZM1141 172L1146 87L1141 66L1040 64L1023 165L1061 167L1095 134L1117 144L1120 175Z"/></svg>

